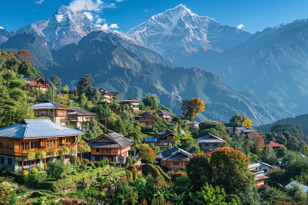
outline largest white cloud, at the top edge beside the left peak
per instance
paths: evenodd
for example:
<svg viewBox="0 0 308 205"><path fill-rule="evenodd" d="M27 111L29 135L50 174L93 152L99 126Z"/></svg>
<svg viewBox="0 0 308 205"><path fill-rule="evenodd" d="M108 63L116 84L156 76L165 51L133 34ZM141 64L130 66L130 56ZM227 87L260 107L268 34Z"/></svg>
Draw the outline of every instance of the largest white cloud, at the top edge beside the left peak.
<svg viewBox="0 0 308 205"><path fill-rule="evenodd" d="M71 1L69 7L74 11L96 11L99 12L104 8L115 8L115 4L107 4L101 0L74 0Z"/></svg>

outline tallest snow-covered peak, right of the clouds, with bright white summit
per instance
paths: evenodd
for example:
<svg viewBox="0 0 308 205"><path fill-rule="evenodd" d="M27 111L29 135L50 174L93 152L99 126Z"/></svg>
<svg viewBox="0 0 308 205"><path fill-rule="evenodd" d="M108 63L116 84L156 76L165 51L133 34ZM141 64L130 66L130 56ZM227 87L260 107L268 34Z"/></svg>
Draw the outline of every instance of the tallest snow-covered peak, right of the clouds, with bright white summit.
<svg viewBox="0 0 308 205"><path fill-rule="evenodd" d="M223 26L213 18L198 16L182 4L152 16L130 29L128 34L127 38L132 37L135 43L161 54L176 65L187 67L196 66L198 57L213 59L251 36L235 27ZM124 38L126 34L118 35ZM197 65L205 68L209 63L202 61Z"/></svg>

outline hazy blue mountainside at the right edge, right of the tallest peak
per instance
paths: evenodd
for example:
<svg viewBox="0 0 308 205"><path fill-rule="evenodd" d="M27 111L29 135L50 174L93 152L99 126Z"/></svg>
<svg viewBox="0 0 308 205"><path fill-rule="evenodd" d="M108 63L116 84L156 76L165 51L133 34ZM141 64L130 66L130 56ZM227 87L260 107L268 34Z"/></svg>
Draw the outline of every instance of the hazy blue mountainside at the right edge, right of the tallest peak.
<svg viewBox="0 0 308 205"><path fill-rule="evenodd" d="M296 114L307 113L307 19L257 32L222 53L212 69L236 89L266 97Z"/></svg>

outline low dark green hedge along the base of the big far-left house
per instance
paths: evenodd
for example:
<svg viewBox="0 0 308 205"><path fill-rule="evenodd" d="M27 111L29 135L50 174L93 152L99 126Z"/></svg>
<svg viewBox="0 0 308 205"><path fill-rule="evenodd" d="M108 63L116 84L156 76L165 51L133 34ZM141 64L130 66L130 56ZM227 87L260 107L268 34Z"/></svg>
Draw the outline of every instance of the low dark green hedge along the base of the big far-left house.
<svg viewBox="0 0 308 205"><path fill-rule="evenodd" d="M13 171L9 171L9 176L15 178L15 181L20 184L31 184L32 186L37 186L38 182L47 178L47 173L45 171L39 172L37 174L23 175L21 173L16 173Z"/></svg>

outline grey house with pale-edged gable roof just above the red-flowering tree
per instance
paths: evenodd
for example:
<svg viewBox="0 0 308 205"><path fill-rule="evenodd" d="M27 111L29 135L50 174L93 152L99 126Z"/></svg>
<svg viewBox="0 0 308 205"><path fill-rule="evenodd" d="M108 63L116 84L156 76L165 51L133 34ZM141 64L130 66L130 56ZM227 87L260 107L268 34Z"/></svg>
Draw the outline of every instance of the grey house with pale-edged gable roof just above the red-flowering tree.
<svg viewBox="0 0 308 205"><path fill-rule="evenodd" d="M220 144L224 143L225 140L208 133L205 136L196 139L196 142L199 143L199 147L204 154L210 154L212 153L212 150L220 148Z"/></svg>

